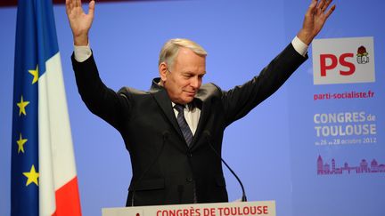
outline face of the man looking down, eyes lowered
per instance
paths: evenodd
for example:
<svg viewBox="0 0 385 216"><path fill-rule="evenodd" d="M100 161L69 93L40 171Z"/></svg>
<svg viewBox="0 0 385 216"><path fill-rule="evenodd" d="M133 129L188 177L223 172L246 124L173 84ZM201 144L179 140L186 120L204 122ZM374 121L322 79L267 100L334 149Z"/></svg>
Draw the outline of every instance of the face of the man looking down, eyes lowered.
<svg viewBox="0 0 385 216"><path fill-rule="evenodd" d="M206 58L181 47L172 68L168 68L166 63L162 64L160 78L171 101L179 104L193 101L206 74Z"/></svg>

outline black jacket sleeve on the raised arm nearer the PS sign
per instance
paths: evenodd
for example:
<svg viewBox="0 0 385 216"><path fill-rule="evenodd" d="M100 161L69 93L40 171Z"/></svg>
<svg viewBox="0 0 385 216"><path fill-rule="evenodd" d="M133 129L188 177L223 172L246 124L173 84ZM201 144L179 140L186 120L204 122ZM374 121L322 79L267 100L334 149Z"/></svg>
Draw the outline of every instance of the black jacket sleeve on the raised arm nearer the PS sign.
<svg viewBox="0 0 385 216"><path fill-rule="evenodd" d="M276 92L291 74L307 60L289 44L258 76L223 92L226 125L246 116L252 108Z"/></svg>

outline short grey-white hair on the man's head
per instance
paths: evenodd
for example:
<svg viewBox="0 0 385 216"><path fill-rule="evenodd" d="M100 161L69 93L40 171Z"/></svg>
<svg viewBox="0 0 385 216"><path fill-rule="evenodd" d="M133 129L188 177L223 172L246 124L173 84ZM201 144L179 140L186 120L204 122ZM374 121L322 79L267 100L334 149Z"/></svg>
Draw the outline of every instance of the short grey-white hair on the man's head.
<svg viewBox="0 0 385 216"><path fill-rule="evenodd" d="M168 67L172 68L180 47L190 49L199 56L207 56L207 52L203 49L203 47L201 47L200 44L196 44L195 42L189 39L175 38L169 40L168 42L166 42L166 44L163 45L160 51L160 59L158 65L160 65L162 62L166 62L166 64L168 64Z"/></svg>

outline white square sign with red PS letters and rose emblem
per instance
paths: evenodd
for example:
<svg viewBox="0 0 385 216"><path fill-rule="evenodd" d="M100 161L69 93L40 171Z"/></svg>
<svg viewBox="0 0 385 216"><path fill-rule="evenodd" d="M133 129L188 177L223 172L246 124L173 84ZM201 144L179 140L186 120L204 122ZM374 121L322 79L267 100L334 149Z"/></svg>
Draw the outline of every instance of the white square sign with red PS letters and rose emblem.
<svg viewBox="0 0 385 216"><path fill-rule="evenodd" d="M314 84L374 82L373 37L315 40L313 71Z"/></svg>

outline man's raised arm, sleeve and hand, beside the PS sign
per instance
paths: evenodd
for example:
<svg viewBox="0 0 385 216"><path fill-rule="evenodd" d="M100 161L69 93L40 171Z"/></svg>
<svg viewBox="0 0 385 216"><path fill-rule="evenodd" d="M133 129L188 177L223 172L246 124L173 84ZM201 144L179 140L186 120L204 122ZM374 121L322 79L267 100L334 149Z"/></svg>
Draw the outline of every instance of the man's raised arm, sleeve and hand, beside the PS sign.
<svg viewBox="0 0 385 216"><path fill-rule="evenodd" d="M324 27L324 23L335 9L335 5L326 12L332 0L312 0L307 9L302 28L299 30L299 40L310 44ZM266 100L277 91L291 74L307 59L296 51L292 44L274 58L258 76L246 84L236 86L223 94L226 123L247 115L252 108Z"/></svg>

